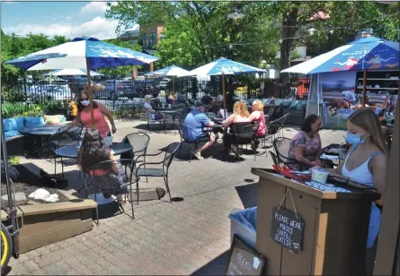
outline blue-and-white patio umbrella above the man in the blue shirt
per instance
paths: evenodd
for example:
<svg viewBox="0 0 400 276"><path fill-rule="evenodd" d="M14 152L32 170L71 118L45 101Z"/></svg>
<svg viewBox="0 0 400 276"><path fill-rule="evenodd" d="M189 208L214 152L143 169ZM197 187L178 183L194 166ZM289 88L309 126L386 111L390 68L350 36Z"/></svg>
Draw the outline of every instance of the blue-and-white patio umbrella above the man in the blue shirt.
<svg viewBox="0 0 400 276"><path fill-rule="evenodd" d="M227 114L227 101L225 97L225 75L227 74L242 74L242 73L266 73L265 70L262 70L257 67L253 67L250 65L244 65L238 63L236 61L227 59L227 58L219 58L208 65L200 66L194 70L191 70L189 73L182 74L181 76L190 76L190 75L220 75L222 76L222 92L224 95L224 114Z"/></svg>

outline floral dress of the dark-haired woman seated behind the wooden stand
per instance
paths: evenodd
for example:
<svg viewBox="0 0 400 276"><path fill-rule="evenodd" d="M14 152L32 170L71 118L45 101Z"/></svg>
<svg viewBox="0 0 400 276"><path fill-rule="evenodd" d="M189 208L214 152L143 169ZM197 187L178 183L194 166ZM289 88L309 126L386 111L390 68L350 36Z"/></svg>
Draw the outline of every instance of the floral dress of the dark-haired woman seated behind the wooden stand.
<svg viewBox="0 0 400 276"><path fill-rule="evenodd" d="M303 157L309 161L315 161L316 155L321 151L321 137L319 134L315 134L313 138L310 138L305 132L298 132L289 144L288 157L291 160L296 160L295 148L303 148ZM305 165L306 166L306 165ZM305 167L301 166L301 167ZM298 165L292 165L293 169L300 169Z"/></svg>

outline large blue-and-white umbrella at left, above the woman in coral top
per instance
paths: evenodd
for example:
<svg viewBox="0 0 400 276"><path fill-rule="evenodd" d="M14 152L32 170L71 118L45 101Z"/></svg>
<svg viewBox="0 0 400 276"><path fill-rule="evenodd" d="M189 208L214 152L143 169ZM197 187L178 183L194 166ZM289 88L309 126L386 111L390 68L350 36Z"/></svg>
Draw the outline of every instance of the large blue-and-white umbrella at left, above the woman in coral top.
<svg viewBox="0 0 400 276"><path fill-rule="evenodd" d="M99 39L83 37L6 61L5 64L15 65L29 71L86 68L93 125L93 95L90 70L126 65L145 65L158 59L159 57L146 55L125 47L118 47Z"/></svg>

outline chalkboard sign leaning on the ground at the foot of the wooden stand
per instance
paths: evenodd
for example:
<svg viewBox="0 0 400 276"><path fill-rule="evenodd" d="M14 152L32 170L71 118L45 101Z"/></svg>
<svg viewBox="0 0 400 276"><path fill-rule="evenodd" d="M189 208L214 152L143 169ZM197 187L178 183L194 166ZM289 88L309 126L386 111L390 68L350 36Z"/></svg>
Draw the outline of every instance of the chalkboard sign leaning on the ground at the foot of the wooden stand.
<svg viewBox="0 0 400 276"><path fill-rule="evenodd" d="M264 266L265 258L235 235L227 275L262 275Z"/></svg>

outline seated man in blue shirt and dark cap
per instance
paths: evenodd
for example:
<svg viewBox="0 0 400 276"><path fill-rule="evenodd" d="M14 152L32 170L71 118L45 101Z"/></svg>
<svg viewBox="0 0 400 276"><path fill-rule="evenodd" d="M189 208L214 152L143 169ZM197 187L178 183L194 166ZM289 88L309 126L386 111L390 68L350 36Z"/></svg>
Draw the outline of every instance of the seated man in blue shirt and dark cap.
<svg viewBox="0 0 400 276"><path fill-rule="evenodd" d="M204 127L214 126L214 122L210 121L209 117L204 114L205 108L206 105L199 101L196 104L196 108L191 110L183 122L183 125L187 125L188 127L182 128L183 139L185 141L201 144L200 148L192 152L198 160L203 159L200 152L209 148L215 142L214 137L204 132Z"/></svg>

